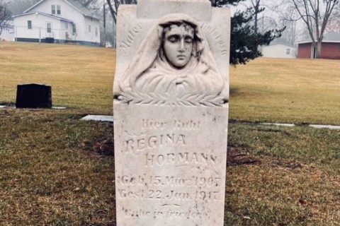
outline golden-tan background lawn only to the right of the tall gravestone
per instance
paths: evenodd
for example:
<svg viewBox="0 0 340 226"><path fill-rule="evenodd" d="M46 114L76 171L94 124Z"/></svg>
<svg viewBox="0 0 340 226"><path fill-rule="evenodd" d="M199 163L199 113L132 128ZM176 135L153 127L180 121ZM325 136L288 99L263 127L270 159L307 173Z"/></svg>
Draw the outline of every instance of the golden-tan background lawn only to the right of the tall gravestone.
<svg viewBox="0 0 340 226"><path fill-rule="evenodd" d="M230 118L340 124L340 61L260 58L231 68Z"/></svg>

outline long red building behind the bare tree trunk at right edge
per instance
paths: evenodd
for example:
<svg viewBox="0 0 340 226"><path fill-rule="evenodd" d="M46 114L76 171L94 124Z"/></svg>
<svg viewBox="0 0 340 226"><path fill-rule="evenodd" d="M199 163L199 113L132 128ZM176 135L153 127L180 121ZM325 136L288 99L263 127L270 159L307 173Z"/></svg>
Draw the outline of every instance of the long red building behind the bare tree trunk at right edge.
<svg viewBox="0 0 340 226"><path fill-rule="evenodd" d="M297 58L315 58L315 48L312 41L297 42ZM322 59L340 59L340 33L329 33L324 35L321 45Z"/></svg>

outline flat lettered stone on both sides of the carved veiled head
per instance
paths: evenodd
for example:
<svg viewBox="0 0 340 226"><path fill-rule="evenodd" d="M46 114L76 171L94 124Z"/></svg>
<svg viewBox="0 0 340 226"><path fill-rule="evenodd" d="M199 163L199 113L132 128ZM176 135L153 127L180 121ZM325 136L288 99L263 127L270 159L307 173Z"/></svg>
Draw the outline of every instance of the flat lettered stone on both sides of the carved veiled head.
<svg viewBox="0 0 340 226"><path fill-rule="evenodd" d="M122 5L118 11L117 25L117 57L115 68L115 83L113 91L118 93L120 90L120 80L125 79L124 73L127 72L132 58L141 59L144 57L138 55L137 49L143 47L147 40L145 37L152 28L155 29L157 19L137 18L137 7L132 5ZM222 76L225 86L222 96L229 99L229 33L230 33L230 13L229 8L212 8L212 17L210 21L199 21L200 30L205 35L205 42L208 43L212 58L215 60L217 69ZM145 42L143 42L145 41ZM158 49L153 50L156 52ZM140 53L140 52L139 52ZM143 59L143 58L142 58ZM152 61L147 57L147 61ZM146 61L146 59L143 59Z"/></svg>

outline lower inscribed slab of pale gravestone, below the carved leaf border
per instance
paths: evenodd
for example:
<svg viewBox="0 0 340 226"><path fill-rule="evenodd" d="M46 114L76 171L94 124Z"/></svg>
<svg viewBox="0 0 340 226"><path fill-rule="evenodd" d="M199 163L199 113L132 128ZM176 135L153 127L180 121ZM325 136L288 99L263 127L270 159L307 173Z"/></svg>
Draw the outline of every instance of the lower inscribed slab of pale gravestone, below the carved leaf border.
<svg viewBox="0 0 340 226"><path fill-rule="evenodd" d="M228 105L113 110L117 225L222 226Z"/></svg>

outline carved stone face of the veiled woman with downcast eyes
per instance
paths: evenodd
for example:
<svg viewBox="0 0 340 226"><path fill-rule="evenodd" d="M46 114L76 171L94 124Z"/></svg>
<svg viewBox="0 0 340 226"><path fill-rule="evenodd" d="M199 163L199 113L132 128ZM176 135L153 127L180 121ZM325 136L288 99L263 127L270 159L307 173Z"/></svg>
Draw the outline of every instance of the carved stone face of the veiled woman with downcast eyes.
<svg viewBox="0 0 340 226"><path fill-rule="evenodd" d="M169 63L182 68L188 63L193 50L193 28L190 25L171 25L164 34L164 53Z"/></svg>

